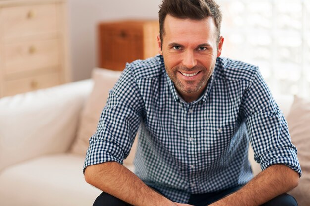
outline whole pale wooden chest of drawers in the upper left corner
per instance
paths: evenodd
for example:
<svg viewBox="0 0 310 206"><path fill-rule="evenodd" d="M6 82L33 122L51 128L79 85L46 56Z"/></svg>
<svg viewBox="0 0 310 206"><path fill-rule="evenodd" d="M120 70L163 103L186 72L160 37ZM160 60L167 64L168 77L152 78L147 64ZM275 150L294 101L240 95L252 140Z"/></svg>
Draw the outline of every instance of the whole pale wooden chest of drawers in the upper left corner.
<svg viewBox="0 0 310 206"><path fill-rule="evenodd" d="M70 82L66 0L0 1L0 97Z"/></svg>

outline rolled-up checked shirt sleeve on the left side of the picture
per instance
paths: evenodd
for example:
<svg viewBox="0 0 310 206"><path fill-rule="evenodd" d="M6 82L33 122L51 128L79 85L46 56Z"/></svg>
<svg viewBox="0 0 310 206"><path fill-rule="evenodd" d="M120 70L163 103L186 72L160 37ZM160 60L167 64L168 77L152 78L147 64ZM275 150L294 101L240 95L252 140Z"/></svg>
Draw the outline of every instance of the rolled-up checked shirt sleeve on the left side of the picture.
<svg viewBox="0 0 310 206"><path fill-rule="evenodd" d="M83 172L89 165L123 163L139 128L143 102L129 65L109 92L106 106L89 140Z"/></svg>

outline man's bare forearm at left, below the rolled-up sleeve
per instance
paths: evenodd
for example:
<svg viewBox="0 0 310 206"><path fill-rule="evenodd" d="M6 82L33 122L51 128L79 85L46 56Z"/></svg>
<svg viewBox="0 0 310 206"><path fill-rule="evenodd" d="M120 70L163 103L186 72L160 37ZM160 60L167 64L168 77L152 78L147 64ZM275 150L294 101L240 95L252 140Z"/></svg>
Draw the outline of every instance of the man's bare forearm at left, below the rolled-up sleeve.
<svg viewBox="0 0 310 206"><path fill-rule="evenodd" d="M85 180L103 192L134 206L176 206L116 162L88 166L85 169Z"/></svg>

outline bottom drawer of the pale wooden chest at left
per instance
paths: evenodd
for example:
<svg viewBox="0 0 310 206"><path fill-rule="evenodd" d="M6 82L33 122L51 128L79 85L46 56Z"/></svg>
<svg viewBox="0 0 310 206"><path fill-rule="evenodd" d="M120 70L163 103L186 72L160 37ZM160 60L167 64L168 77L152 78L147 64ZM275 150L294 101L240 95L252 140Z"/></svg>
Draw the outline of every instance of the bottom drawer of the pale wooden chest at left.
<svg viewBox="0 0 310 206"><path fill-rule="evenodd" d="M61 83L60 73L37 75L30 78L3 82L3 96L10 96L36 89L52 87Z"/></svg>

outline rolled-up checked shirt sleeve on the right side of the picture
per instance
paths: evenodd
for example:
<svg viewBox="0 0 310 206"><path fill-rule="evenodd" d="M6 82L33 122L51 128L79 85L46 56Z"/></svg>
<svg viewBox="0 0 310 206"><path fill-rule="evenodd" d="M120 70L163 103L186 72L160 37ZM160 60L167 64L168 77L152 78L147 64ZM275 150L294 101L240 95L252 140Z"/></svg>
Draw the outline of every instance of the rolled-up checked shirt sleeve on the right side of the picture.
<svg viewBox="0 0 310 206"><path fill-rule="evenodd" d="M253 77L243 98L243 112L254 159L262 170L270 165L284 164L301 176L297 149L291 142L284 115L258 68Z"/></svg>

